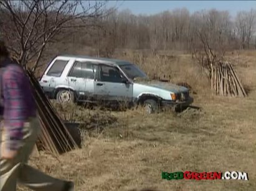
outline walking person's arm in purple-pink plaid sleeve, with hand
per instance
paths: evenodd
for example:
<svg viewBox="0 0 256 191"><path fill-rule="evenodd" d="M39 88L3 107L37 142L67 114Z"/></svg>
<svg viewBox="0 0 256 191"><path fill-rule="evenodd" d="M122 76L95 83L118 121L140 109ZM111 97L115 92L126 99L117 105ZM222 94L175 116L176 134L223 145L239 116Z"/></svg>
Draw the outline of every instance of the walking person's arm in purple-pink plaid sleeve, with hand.
<svg viewBox="0 0 256 191"><path fill-rule="evenodd" d="M26 99L22 89L25 74L17 66L7 68L2 76L4 95L4 130L7 133L6 149L16 151L22 146L23 125L26 122Z"/></svg>

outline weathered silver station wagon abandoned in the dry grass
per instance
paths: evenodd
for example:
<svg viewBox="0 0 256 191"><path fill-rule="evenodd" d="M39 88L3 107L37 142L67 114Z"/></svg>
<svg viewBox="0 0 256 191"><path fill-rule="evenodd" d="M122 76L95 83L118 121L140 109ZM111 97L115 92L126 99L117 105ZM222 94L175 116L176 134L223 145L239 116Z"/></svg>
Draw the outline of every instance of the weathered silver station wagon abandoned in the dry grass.
<svg viewBox="0 0 256 191"><path fill-rule="evenodd" d="M151 81L138 66L124 60L89 56L56 56L39 80L50 99L91 104L143 105L153 113L164 107L188 107L189 89Z"/></svg>

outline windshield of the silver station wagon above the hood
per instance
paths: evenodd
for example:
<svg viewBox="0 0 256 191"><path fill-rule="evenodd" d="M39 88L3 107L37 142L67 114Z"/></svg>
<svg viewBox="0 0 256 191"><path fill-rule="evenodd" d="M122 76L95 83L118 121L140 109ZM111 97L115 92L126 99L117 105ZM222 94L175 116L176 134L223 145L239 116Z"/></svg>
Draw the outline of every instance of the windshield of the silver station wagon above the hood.
<svg viewBox="0 0 256 191"><path fill-rule="evenodd" d="M148 78L148 76L146 76L146 74L143 71L141 71L141 69L138 68L137 66L135 66L134 64L125 64L125 65L120 66L120 68L130 79Z"/></svg>

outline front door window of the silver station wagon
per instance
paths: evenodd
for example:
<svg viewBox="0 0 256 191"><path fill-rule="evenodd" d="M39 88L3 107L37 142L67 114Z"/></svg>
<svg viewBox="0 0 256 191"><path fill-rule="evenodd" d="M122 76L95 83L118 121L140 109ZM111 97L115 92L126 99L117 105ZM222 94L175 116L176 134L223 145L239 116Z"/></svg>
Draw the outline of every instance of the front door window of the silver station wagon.
<svg viewBox="0 0 256 191"><path fill-rule="evenodd" d="M121 73L117 68L101 65L100 81L121 83L123 81L123 76L121 76Z"/></svg>

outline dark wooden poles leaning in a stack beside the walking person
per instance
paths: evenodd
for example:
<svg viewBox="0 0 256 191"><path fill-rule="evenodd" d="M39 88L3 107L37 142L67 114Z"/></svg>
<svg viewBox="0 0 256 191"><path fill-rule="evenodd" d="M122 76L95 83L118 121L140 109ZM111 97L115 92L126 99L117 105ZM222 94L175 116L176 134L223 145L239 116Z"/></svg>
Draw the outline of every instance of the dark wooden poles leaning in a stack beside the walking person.
<svg viewBox="0 0 256 191"><path fill-rule="evenodd" d="M37 148L43 147L43 149L55 155L65 153L73 148L78 148L79 146L75 140L73 140L72 135L70 135L69 130L65 127L57 111L52 107L52 104L42 91L32 71L27 70L27 74L34 89L34 98L36 100L41 123L41 133L39 135Z"/></svg>

